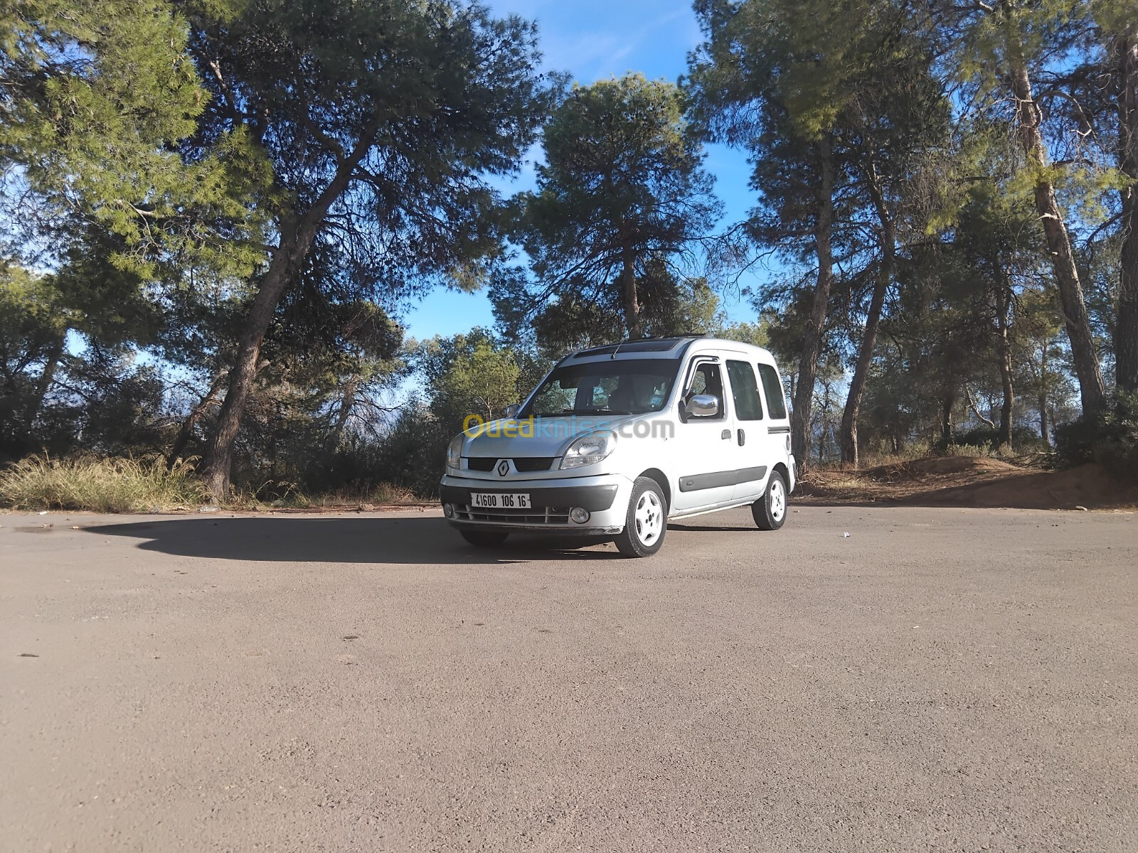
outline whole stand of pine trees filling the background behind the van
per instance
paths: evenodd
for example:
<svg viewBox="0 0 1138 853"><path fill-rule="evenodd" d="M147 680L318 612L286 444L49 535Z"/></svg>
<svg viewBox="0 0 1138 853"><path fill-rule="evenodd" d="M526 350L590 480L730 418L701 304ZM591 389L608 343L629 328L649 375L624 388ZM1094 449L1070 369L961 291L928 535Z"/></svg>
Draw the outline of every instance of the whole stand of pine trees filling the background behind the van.
<svg viewBox="0 0 1138 853"><path fill-rule="evenodd" d="M0 462L427 492L566 351L684 333L775 353L803 465L1119 445L1132 0L693 11L678 80L567 88L465 0L3 5ZM494 326L404 340L434 288Z"/></svg>

